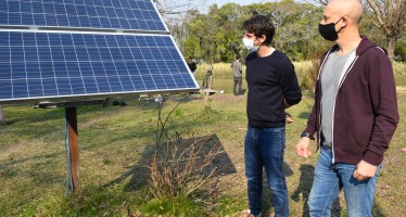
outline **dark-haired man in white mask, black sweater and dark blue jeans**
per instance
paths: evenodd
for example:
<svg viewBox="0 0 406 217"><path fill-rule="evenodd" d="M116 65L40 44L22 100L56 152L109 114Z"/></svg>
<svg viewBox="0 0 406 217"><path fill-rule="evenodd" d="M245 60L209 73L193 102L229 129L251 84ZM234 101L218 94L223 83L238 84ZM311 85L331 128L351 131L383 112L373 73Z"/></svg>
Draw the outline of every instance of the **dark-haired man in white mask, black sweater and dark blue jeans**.
<svg viewBox="0 0 406 217"><path fill-rule="evenodd" d="M289 216L283 175L284 108L297 104L302 92L291 61L270 46L275 27L266 15L243 23L243 43L252 52L245 58L248 82L248 130L244 141L245 176L250 216L259 216L263 168L272 192L276 216Z"/></svg>

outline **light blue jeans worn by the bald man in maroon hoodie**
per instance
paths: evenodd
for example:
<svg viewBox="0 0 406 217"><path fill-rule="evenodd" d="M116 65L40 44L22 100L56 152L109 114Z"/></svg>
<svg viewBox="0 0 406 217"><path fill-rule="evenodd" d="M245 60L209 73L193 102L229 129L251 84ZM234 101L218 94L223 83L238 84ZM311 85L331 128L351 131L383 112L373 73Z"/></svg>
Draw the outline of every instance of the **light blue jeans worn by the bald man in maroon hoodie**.
<svg viewBox="0 0 406 217"><path fill-rule="evenodd" d="M312 217L331 216L332 203L341 189L344 189L348 217L372 216L375 187L381 165L375 177L363 181L353 177L355 168L356 165L351 164L332 164L331 149L321 146L308 199Z"/></svg>

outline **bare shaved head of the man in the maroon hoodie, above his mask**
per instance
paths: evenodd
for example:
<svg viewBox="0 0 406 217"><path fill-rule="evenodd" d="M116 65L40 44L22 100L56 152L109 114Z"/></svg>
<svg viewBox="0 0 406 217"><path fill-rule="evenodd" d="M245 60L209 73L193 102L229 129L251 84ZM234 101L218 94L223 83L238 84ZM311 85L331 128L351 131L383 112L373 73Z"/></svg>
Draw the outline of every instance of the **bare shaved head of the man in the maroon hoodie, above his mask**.
<svg viewBox="0 0 406 217"><path fill-rule="evenodd" d="M325 11L347 16L354 24L359 24L363 17L363 5L359 0L332 0L327 4Z"/></svg>

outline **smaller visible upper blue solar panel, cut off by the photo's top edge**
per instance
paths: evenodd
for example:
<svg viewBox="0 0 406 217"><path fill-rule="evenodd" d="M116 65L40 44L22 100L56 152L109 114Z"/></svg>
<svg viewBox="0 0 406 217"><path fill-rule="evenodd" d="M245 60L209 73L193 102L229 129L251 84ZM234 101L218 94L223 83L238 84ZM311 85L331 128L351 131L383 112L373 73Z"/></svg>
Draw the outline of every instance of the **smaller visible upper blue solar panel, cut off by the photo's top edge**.
<svg viewBox="0 0 406 217"><path fill-rule="evenodd" d="M148 0L2 0L0 25L167 30Z"/></svg>

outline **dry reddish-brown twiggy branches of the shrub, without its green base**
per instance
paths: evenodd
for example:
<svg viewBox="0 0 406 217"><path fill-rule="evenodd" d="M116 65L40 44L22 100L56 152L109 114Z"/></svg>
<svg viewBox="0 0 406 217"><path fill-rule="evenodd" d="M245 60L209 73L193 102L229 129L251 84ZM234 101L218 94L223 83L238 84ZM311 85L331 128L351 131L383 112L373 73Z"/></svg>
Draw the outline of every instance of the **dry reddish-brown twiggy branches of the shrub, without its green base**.
<svg viewBox="0 0 406 217"><path fill-rule="evenodd" d="M176 132L174 140L157 146L150 164L151 193L158 199L179 197L206 189L216 171L212 162L220 153L217 143L207 145L210 139L183 139Z"/></svg>

